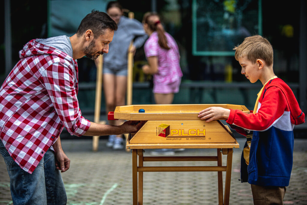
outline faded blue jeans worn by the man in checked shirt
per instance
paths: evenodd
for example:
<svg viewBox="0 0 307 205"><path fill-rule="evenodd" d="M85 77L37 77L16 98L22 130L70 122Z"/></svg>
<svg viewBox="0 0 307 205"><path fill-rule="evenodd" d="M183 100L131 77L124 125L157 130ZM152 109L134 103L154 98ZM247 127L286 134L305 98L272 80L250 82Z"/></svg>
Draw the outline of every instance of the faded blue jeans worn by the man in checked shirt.
<svg viewBox="0 0 307 205"><path fill-rule="evenodd" d="M14 205L66 204L67 196L55 156L48 150L32 174L23 171L7 152L0 140L0 153L10 176L10 189Z"/></svg>

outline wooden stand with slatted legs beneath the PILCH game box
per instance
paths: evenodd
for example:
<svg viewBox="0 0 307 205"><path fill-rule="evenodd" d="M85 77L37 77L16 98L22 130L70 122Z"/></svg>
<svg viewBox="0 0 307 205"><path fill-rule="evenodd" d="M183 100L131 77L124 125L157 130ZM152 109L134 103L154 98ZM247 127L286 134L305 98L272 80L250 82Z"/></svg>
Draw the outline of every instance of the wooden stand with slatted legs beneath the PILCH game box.
<svg viewBox="0 0 307 205"><path fill-rule="evenodd" d="M217 148L217 156L151 156L143 155L143 149L148 148ZM230 196L231 165L233 148L239 148L238 142L220 144L129 144L127 148L132 149L132 190L133 204L143 204L143 172L147 171L217 171L218 172L218 197L219 205L228 205ZM226 166L222 166L222 154L227 155ZM137 157L138 156L138 157ZM171 167L146 167L143 162L154 161L217 161L217 166L171 166ZM223 176L226 171L225 190L223 199Z"/></svg>

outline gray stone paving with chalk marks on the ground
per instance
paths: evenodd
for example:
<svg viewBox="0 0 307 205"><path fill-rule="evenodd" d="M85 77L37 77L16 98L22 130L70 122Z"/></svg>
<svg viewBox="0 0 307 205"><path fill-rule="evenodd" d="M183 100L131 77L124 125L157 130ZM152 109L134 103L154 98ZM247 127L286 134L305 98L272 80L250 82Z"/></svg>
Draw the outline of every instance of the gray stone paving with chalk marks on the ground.
<svg viewBox="0 0 307 205"><path fill-rule="evenodd" d="M251 187L241 183L240 156L243 138L237 139L232 161L230 204L253 204ZM62 140L71 167L62 173L68 204L132 204L132 154L114 151L99 140L92 152L91 140ZM307 139L294 140L294 162L284 204L307 204ZM145 156L150 155L146 150ZM216 149L186 149L177 156L215 156ZM223 166L226 165L226 156ZM216 162L144 162L144 166L216 166ZM225 179L225 172L223 172ZM0 157L0 204L13 204L9 177ZM224 182L223 182L224 186ZM218 204L216 172L144 172L144 204Z"/></svg>

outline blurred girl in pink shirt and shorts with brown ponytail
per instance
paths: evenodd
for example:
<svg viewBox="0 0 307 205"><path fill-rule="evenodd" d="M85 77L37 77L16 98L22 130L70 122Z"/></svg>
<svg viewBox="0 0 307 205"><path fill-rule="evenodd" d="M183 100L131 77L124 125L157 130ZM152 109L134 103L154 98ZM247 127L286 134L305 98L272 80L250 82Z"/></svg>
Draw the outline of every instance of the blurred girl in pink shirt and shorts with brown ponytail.
<svg viewBox="0 0 307 205"><path fill-rule="evenodd" d="M144 65L142 70L146 74L153 74L156 104L172 104L174 93L179 92L182 77L177 43L164 31L156 13L144 15L143 27L149 38L144 45L148 65Z"/></svg>

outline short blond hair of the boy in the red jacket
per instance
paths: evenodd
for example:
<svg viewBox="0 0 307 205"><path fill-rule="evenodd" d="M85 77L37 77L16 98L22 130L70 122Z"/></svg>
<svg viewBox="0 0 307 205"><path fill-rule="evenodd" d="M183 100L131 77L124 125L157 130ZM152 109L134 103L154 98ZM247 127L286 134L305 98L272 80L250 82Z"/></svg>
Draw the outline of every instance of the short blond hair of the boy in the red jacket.
<svg viewBox="0 0 307 205"><path fill-rule="evenodd" d="M235 59L238 61L241 57L246 57L252 63L256 63L257 59L265 61L267 66L273 64L273 48L270 42L260 36L254 35L244 38L244 41L235 46Z"/></svg>

